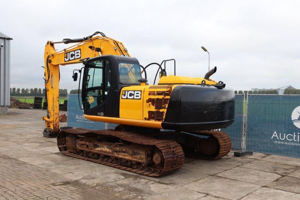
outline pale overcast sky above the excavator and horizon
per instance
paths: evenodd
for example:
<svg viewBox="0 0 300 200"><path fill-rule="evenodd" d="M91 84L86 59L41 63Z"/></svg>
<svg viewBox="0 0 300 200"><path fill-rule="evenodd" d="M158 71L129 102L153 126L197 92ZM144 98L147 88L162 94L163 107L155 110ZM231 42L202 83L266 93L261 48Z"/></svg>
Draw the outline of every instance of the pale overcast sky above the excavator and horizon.
<svg viewBox="0 0 300 200"><path fill-rule="evenodd" d="M48 40L96 31L122 41L141 65L176 59L176 74L211 77L236 90L300 89L299 1L13 1L1 0L0 32L11 41L10 86L44 87ZM71 46L56 45L58 50ZM76 89L61 66L60 88ZM147 68L153 83L156 67ZM149 70L148 70L149 69ZM173 64L167 65L173 74Z"/></svg>

